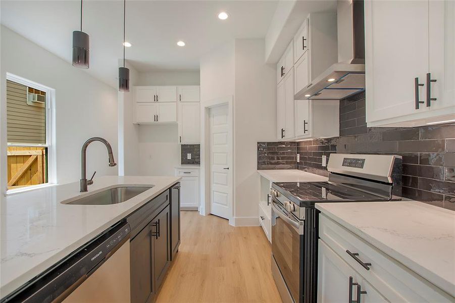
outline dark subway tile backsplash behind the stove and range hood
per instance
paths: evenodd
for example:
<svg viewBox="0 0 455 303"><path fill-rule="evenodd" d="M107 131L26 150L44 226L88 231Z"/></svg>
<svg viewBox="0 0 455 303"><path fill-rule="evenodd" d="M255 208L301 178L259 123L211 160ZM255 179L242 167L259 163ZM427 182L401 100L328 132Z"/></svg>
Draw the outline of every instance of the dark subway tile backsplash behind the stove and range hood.
<svg viewBox="0 0 455 303"><path fill-rule="evenodd" d="M295 156L299 154L300 162L286 167L324 176L328 172L322 166L322 156L326 156L328 161L331 153L399 155L403 157L404 197L455 210L454 123L411 128L367 127L365 92L362 92L340 100L340 137L300 142L260 142L258 169L266 169L260 166L260 144L291 146L292 143L295 144L294 151L289 150L290 154L285 156L292 156L292 152ZM265 158L262 162L267 163ZM285 169L284 166L267 165L269 169Z"/></svg>

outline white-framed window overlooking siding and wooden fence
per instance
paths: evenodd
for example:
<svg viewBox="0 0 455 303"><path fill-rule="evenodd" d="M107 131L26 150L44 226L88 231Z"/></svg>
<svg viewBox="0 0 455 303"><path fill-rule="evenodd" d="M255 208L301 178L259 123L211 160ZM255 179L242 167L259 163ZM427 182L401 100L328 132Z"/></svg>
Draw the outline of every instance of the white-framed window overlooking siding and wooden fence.
<svg viewBox="0 0 455 303"><path fill-rule="evenodd" d="M54 90L7 74L8 191L54 183L52 97Z"/></svg>

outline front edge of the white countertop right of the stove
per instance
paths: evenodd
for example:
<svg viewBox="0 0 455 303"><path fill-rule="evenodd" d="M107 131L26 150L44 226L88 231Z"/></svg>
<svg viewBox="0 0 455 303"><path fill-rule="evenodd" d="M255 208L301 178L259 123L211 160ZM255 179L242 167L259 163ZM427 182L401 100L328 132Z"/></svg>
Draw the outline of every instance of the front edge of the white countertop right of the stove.
<svg viewBox="0 0 455 303"><path fill-rule="evenodd" d="M414 202L416 204L420 204L422 202L415 201L415 200L409 200L408 202ZM374 202L373 202L374 203ZM396 203L393 201L388 201L388 202L381 202L381 203ZM423 203L422 203L423 204ZM427 205L427 204L425 204ZM331 220L335 221L336 223L340 224L350 232L354 233L355 235L361 237L364 239L366 242L368 242L370 245L375 247L376 249L382 251L384 254L395 260L396 262L400 263L401 265L407 267L411 271L415 272L418 274L420 277L423 279L427 280L431 284L437 286L440 288L442 291L455 296L455 289L454 289L454 284L452 284L450 281L447 281L446 279L438 276L434 272L428 270L425 267L422 267L420 264L414 262L413 260L409 259L407 256L400 254L387 244L377 240L376 238L366 234L362 230L358 229L356 226L350 224L346 220L341 219L340 217L334 215L332 212L324 208L323 204L316 204L315 205L316 209L321 211L322 214L330 218Z"/></svg>

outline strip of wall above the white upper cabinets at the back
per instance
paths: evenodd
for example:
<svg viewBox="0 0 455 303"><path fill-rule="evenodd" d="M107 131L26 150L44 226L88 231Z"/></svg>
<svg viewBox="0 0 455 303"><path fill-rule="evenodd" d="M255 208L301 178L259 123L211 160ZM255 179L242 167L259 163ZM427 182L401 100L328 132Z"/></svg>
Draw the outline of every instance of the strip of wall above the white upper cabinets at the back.
<svg viewBox="0 0 455 303"><path fill-rule="evenodd" d="M136 85L199 85L199 72L142 72Z"/></svg>

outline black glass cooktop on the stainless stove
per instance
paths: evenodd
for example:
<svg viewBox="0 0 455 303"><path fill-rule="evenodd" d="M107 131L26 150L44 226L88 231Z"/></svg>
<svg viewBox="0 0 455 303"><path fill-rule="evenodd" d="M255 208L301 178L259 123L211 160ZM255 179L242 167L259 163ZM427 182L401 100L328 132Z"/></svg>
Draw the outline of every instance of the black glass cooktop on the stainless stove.
<svg viewBox="0 0 455 303"><path fill-rule="evenodd" d="M386 198L331 182L277 182L273 186L295 203L384 201ZM297 201L295 201L297 199Z"/></svg>

